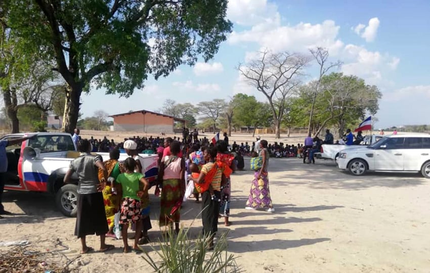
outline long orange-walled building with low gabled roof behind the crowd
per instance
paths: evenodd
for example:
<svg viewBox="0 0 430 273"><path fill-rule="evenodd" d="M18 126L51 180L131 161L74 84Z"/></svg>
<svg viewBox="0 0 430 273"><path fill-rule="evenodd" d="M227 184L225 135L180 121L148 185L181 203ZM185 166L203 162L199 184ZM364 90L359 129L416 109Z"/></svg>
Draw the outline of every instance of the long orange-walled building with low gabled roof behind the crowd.
<svg viewBox="0 0 430 273"><path fill-rule="evenodd" d="M147 110L116 114L110 117L113 118L114 131L173 133L175 122L182 123L182 126L185 126L186 123L184 119Z"/></svg>

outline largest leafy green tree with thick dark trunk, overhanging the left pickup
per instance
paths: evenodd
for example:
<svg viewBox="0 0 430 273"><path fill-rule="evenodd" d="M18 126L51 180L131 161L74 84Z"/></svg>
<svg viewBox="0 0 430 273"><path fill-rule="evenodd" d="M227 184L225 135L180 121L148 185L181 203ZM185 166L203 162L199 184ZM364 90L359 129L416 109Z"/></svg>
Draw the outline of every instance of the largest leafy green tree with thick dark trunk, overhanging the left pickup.
<svg viewBox="0 0 430 273"><path fill-rule="evenodd" d="M90 83L128 97L149 73L157 79L199 56L208 61L232 29L227 0L34 0L25 8L4 0L2 6L10 11L7 25L26 44L37 44L66 81L66 132L76 127Z"/></svg>

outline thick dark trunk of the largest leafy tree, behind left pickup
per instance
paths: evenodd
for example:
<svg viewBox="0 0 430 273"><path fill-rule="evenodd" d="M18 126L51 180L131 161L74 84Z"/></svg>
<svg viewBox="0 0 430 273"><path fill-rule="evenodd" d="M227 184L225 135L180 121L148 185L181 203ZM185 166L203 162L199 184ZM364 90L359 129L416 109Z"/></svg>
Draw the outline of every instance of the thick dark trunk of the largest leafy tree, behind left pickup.
<svg viewBox="0 0 430 273"><path fill-rule="evenodd" d="M73 133L79 117L81 86L67 86L66 104L63 116L63 132Z"/></svg>

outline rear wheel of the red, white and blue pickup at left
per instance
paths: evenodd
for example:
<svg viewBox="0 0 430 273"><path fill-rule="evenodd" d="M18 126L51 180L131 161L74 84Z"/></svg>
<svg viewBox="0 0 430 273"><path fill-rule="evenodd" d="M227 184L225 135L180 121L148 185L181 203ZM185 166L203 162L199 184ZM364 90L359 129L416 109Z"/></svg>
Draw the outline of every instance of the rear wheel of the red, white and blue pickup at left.
<svg viewBox="0 0 430 273"><path fill-rule="evenodd" d="M76 217L77 213L77 186L64 185L56 195L57 207L67 217Z"/></svg>

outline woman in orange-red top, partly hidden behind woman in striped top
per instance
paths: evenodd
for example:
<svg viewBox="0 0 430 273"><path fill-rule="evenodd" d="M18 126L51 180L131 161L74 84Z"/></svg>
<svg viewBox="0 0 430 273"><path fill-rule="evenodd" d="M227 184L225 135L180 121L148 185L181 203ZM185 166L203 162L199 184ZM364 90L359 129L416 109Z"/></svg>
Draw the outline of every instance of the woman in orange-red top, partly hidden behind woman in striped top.
<svg viewBox="0 0 430 273"><path fill-rule="evenodd" d="M236 166L233 163L234 155L228 152L228 144L225 141L219 141L217 143L217 162L222 162L225 164L225 168L231 168L231 171L224 172L226 175L226 183L221 186L221 207L220 216L224 217L224 225L230 226L230 195L231 195L231 179L230 174L232 171L236 170Z"/></svg>

